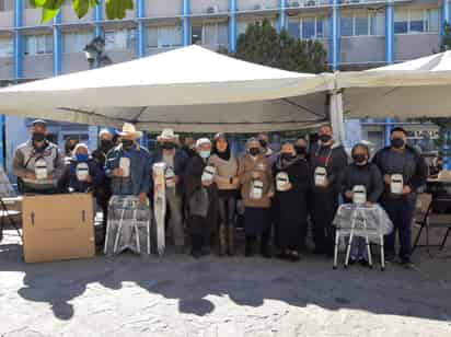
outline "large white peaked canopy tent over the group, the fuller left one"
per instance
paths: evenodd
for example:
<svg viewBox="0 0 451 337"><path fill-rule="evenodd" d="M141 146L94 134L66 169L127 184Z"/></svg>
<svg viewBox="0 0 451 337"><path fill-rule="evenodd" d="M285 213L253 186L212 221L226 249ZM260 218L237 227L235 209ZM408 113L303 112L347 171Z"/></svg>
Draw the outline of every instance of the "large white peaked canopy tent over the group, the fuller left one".
<svg viewBox="0 0 451 337"><path fill-rule="evenodd" d="M0 90L0 114L141 130L293 130L328 119L333 74L258 66L190 46Z"/></svg>

